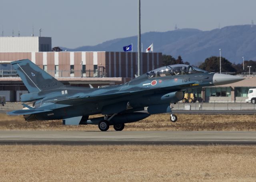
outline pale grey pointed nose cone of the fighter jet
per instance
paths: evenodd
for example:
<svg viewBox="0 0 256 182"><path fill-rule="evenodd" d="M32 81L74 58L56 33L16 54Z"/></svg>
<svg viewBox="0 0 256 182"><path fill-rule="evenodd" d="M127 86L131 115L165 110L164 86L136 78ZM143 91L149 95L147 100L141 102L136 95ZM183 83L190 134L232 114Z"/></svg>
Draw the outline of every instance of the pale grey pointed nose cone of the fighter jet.
<svg viewBox="0 0 256 182"><path fill-rule="evenodd" d="M224 84L231 84L234 82L239 82L244 79L245 79L244 77L233 76L230 74L215 73L213 75L212 81L213 81L214 85L224 85Z"/></svg>

